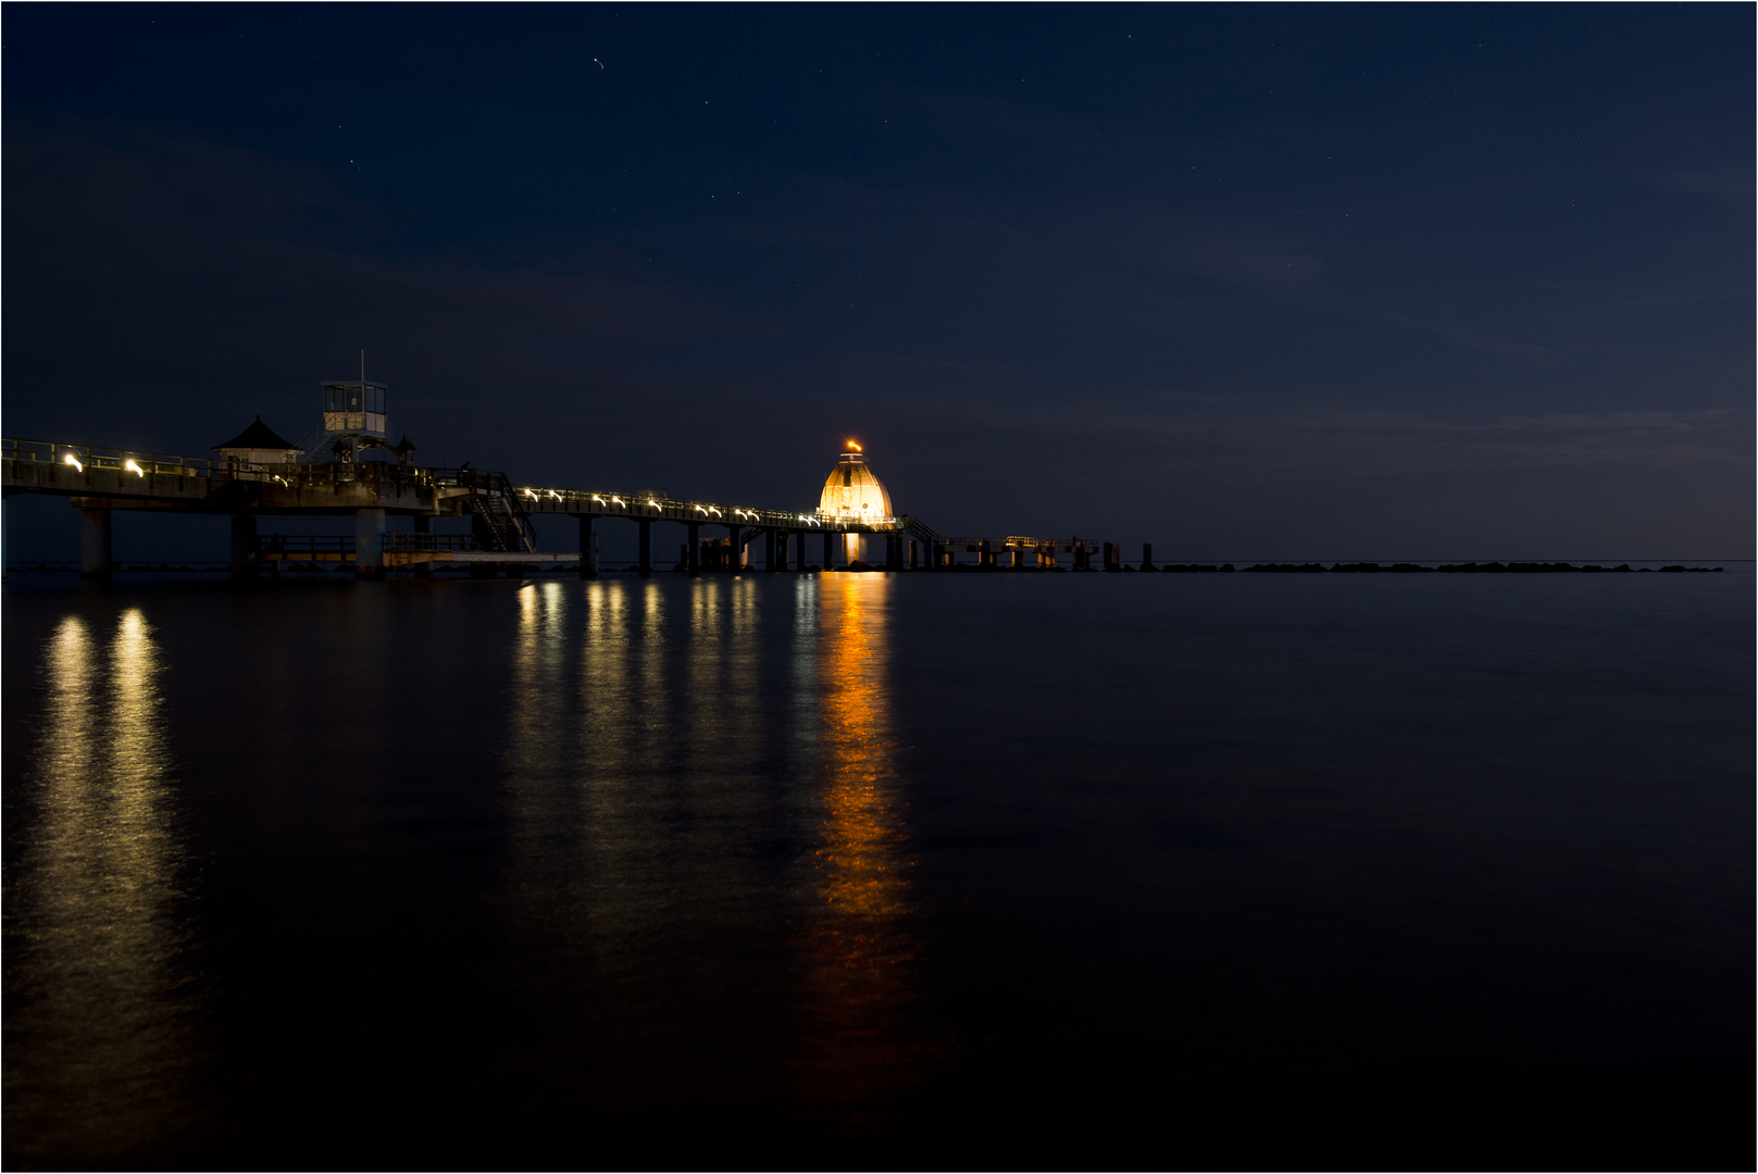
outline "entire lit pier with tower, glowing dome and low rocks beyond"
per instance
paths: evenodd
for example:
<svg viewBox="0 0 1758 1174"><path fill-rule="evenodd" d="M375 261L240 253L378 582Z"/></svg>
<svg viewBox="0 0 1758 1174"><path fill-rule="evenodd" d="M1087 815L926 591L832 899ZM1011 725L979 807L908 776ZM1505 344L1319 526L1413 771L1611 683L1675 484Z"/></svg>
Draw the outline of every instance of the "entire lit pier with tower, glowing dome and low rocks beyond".
<svg viewBox="0 0 1758 1174"><path fill-rule="evenodd" d="M1116 541L1042 534L944 536L919 517L897 511L884 482L849 439L825 478L817 504L772 510L731 501L672 497L657 489L564 489L517 485L492 469L434 467L415 460L404 436L390 443L385 415L389 388L366 378L320 383L322 415L313 436L295 445L258 417L207 457L188 457L86 443L0 438L0 490L67 497L79 515L79 573L107 580L120 568L113 552L114 515L121 511L225 515L234 578L278 576L283 569L352 569L357 578L431 576L440 569L478 578L573 569L599 573L599 527L635 525L640 575L675 569L708 571L1234 571L1208 564L1155 566L1153 547L1125 562ZM573 550L540 550L540 517L575 520ZM262 522L280 517L346 518L352 533L264 534ZM390 520L410 518L408 529ZM434 520L468 520L436 529ZM682 538L677 559L661 557L670 541L654 545L654 525L680 527L661 536ZM4 534L0 525L0 534ZM874 562L861 559L863 543ZM840 552L840 554L839 554ZM0 550L0 568L5 562ZM1468 562L1422 568L1396 562L1259 562L1243 571L1628 571L1630 566L1565 562ZM1667 566L1661 569L1686 569ZM1689 568L1711 569L1711 568ZM1719 569L1719 568L1716 568ZM0 571L4 573L4 571Z"/></svg>

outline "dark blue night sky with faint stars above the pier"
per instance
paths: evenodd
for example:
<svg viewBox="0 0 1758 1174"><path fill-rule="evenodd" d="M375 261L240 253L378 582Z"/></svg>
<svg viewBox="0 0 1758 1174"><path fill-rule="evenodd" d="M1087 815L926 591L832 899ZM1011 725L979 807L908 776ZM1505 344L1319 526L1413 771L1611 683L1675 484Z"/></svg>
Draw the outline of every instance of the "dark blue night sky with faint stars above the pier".
<svg viewBox="0 0 1758 1174"><path fill-rule="evenodd" d="M810 508L854 436L949 534L1753 555L1751 5L4 32L7 436L299 439L366 348L424 464L520 483Z"/></svg>

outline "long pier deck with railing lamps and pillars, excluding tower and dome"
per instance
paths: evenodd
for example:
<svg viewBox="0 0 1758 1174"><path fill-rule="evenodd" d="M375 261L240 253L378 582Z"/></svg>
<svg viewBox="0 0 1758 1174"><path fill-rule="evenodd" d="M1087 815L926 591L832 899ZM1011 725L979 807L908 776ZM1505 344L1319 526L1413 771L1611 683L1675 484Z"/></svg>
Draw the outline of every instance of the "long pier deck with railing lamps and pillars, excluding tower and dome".
<svg viewBox="0 0 1758 1174"><path fill-rule="evenodd" d="M267 455L248 446L243 453ZM7 497L47 494L70 501L79 511L79 571L86 578L107 578L116 569L111 533L118 510L230 517L230 569L237 576L272 573L288 562L352 562L362 578L432 573L434 566L501 575L557 564L577 564L578 573L591 578L599 571L594 536L607 520L636 527L635 569L642 575L661 566L654 524L682 527L675 566L689 573L837 569L839 548L840 566L849 568L849 536L883 540L883 559L872 568L854 564L856 569L965 569L969 564L958 561L960 554L976 554L976 569L1097 569L1092 561L1101 552L1106 569L1120 561L1116 543L942 538L921 518L890 510L772 510L677 499L659 490L515 485L498 471L425 467L406 459L309 462L248 455L190 457L4 438L0 489ZM575 518L578 548L538 550L531 520L541 515ZM350 518L353 533L260 534L262 520L276 517ZM413 529L390 531L387 518L392 517L411 518ZM434 518L469 518L471 533L432 533Z"/></svg>

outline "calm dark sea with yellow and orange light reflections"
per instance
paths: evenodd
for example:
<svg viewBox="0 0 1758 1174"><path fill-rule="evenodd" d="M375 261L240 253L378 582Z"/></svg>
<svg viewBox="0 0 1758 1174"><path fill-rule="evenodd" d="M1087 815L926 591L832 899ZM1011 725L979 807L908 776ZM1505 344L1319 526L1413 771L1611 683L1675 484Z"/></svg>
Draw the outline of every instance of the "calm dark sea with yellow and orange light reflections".
<svg viewBox="0 0 1758 1174"><path fill-rule="evenodd" d="M5 1162L1753 1160L1753 576L5 594Z"/></svg>

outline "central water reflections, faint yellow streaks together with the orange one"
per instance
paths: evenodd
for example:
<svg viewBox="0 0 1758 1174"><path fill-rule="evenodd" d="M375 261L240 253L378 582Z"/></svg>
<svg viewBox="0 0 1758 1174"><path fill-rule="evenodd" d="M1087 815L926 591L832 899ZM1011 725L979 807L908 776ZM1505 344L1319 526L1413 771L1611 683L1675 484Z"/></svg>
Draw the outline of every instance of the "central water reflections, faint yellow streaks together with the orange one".
<svg viewBox="0 0 1758 1174"><path fill-rule="evenodd" d="M925 1070L879 576L519 596L515 937L607 1104L812 1105L861 1134ZM782 1109L791 1112L791 1109Z"/></svg>

